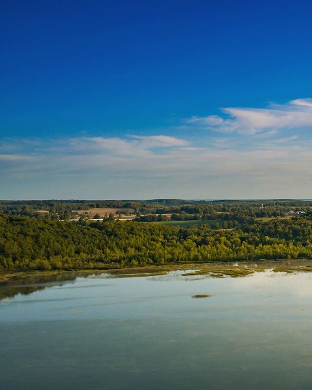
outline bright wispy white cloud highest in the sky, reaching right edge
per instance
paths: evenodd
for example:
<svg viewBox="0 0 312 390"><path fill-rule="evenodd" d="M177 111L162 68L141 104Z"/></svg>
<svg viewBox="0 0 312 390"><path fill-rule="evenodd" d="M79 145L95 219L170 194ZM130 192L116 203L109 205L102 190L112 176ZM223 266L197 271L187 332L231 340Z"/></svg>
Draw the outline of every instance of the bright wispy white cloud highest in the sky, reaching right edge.
<svg viewBox="0 0 312 390"><path fill-rule="evenodd" d="M219 132L273 134L277 129L312 128L312 99L296 99L286 104L271 104L269 108L222 108L225 116L193 116L184 119L188 125Z"/></svg>

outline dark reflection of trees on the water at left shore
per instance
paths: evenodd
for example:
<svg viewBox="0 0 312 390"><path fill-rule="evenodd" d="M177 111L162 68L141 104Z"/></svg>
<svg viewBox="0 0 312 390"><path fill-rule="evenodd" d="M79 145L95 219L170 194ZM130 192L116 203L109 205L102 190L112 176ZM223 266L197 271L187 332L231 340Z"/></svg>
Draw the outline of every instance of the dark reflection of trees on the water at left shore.
<svg viewBox="0 0 312 390"><path fill-rule="evenodd" d="M63 286L73 283L78 276L85 276L81 272L66 272L55 275L29 275L25 278L9 280L0 285L0 299L13 298L18 294L29 295L47 287Z"/></svg>

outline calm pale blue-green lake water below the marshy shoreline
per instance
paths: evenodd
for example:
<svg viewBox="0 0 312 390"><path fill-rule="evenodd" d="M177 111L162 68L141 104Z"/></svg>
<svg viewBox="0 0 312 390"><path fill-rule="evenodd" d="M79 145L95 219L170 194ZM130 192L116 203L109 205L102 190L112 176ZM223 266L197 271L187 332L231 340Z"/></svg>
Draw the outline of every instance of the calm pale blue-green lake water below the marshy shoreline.
<svg viewBox="0 0 312 390"><path fill-rule="evenodd" d="M0 287L0 389L312 389L312 273L182 273Z"/></svg>

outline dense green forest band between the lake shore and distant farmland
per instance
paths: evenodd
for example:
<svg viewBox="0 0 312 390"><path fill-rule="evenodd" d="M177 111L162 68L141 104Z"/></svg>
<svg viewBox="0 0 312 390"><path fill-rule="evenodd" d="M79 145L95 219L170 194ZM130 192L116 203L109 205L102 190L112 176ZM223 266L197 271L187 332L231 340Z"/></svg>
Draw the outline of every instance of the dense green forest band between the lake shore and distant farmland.
<svg viewBox="0 0 312 390"><path fill-rule="evenodd" d="M78 269L312 258L310 213L235 229L0 215L0 268Z"/></svg>

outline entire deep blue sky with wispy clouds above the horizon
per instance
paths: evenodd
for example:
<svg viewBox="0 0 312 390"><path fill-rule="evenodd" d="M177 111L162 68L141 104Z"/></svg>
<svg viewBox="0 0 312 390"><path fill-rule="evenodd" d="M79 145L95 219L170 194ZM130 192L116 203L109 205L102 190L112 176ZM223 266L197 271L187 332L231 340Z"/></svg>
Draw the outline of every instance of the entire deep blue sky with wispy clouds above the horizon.
<svg viewBox="0 0 312 390"><path fill-rule="evenodd" d="M312 198L310 1L4 1L1 199Z"/></svg>

